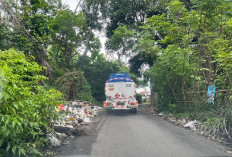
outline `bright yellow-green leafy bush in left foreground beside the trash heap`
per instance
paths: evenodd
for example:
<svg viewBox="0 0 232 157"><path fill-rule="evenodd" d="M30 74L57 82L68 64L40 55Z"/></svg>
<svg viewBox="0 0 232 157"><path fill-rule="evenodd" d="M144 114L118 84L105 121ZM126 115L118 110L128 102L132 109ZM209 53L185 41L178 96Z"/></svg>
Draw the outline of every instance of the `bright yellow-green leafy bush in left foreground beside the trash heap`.
<svg viewBox="0 0 232 157"><path fill-rule="evenodd" d="M0 51L0 154L41 155L46 130L56 119L55 106L62 100L56 90L39 85L43 68L22 52Z"/></svg>

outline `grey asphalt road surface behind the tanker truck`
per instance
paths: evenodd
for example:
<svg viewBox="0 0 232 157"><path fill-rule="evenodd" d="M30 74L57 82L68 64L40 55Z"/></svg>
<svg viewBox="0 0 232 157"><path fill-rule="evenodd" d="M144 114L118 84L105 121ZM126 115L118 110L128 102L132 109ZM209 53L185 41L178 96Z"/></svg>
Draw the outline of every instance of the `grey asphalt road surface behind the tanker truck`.
<svg viewBox="0 0 232 157"><path fill-rule="evenodd" d="M103 113L88 129L57 157L231 156L223 145L141 111Z"/></svg>

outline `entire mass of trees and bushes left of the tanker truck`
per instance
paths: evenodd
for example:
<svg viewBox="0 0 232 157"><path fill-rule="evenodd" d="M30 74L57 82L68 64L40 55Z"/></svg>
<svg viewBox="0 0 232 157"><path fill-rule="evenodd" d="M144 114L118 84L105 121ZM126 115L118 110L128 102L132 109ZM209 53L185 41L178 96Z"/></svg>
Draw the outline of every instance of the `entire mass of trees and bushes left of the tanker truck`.
<svg viewBox="0 0 232 157"><path fill-rule="evenodd" d="M42 156L56 106L101 105L110 74L129 68L100 54L95 20L61 1L1 0L0 15L0 156Z"/></svg>

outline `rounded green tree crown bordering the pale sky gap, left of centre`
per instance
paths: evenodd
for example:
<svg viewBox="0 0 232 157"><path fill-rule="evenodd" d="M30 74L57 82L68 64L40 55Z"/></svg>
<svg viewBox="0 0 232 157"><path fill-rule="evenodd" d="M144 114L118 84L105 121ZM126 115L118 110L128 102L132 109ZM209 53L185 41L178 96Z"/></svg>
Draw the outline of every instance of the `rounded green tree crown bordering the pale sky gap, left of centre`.
<svg viewBox="0 0 232 157"><path fill-rule="evenodd" d="M90 52L92 57L100 51L101 43L89 29L82 12L59 11L51 22L51 28L52 46L48 57L56 66L72 69L83 49L84 56Z"/></svg>

